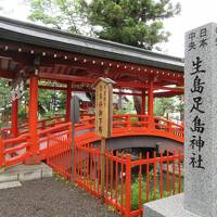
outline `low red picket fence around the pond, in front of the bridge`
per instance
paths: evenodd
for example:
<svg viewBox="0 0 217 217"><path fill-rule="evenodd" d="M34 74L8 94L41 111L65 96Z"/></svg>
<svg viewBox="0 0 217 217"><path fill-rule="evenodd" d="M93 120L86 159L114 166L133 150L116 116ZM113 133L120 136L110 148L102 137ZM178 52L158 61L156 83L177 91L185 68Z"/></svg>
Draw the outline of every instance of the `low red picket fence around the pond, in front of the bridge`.
<svg viewBox="0 0 217 217"><path fill-rule="evenodd" d="M62 152L64 146L64 151ZM104 202L124 216L142 215L142 204L182 191L183 154L156 152L150 156L140 153L138 159L117 151L106 151ZM68 143L56 146L48 164L65 178L101 197L100 149L84 141L76 142L72 168L72 149Z"/></svg>

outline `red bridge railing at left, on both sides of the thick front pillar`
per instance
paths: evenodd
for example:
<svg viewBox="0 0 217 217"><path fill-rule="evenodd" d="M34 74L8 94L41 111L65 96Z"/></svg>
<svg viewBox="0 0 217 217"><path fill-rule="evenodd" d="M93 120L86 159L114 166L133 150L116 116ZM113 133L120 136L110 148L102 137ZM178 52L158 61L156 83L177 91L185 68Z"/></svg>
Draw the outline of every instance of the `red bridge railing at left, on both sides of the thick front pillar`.
<svg viewBox="0 0 217 217"><path fill-rule="evenodd" d="M47 159L56 152L63 152L64 144L72 144L72 124L59 124L38 132L40 158ZM30 154L30 135L12 139L0 139L0 168L24 163Z"/></svg>

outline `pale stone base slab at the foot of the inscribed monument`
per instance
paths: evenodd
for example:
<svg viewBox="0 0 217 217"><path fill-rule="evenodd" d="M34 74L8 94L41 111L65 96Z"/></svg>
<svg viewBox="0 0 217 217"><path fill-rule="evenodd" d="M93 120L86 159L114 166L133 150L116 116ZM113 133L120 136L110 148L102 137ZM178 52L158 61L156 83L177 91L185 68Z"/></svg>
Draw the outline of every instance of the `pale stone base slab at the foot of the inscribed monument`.
<svg viewBox="0 0 217 217"><path fill-rule="evenodd" d="M183 193L143 205L143 217L201 217L183 208Z"/></svg>

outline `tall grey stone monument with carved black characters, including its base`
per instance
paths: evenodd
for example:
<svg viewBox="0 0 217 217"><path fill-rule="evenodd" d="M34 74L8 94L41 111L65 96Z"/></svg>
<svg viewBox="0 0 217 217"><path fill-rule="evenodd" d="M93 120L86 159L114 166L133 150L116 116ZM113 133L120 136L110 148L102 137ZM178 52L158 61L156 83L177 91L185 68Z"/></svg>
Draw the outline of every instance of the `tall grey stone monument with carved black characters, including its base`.
<svg viewBox="0 0 217 217"><path fill-rule="evenodd" d="M217 217L217 24L186 34L184 79L184 193L145 204L145 217Z"/></svg>

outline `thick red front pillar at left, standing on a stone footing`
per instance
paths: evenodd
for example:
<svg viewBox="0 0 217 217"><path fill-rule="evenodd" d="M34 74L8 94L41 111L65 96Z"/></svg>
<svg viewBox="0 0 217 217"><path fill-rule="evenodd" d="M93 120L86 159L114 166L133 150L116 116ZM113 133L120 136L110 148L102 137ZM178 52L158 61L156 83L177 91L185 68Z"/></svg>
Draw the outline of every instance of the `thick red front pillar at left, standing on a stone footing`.
<svg viewBox="0 0 217 217"><path fill-rule="evenodd" d="M28 108L30 146L29 146L29 156L26 159L26 164L40 163L37 123L38 123L38 77L36 75L31 75L29 85L29 108Z"/></svg>

